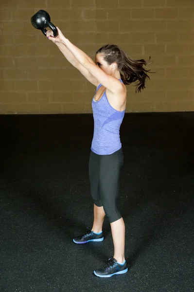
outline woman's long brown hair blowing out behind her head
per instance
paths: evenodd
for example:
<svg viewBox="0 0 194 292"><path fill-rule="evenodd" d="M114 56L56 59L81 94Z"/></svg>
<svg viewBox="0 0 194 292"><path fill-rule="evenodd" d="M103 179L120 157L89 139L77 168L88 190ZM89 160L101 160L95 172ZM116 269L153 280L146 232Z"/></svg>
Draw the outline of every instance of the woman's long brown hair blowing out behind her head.
<svg viewBox="0 0 194 292"><path fill-rule="evenodd" d="M138 81L136 86L136 93L141 92L145 88L145 80L146 78L150 79L148 76L148 72L150 70L146 70L143 68L143 65L151 64L146 62L144 59L140 60L133 60L129 58L124 51L118 47L117 45L105 45L104 47L100 48L97 54L103 54L105 61L108 65L112 64L113 62L117 63L118 70L121 74L121 79L125 85L129 85L133 82ZM149 57L150 60L151 57Z"/></svg>

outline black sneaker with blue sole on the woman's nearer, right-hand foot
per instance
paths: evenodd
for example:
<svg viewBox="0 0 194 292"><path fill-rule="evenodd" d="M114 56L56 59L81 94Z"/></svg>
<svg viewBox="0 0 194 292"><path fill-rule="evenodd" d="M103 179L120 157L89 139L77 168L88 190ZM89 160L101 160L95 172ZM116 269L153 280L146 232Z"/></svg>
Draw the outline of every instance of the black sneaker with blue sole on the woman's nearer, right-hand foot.
<svg viewBox="0 0 194 292"><path fill-rule="evenodd" d="M121 265L112 256L109 258L108 263L101 269L94 271L94 274L98 277L108 278L117 274L124 274L128 271L126 261Z"/></svg>

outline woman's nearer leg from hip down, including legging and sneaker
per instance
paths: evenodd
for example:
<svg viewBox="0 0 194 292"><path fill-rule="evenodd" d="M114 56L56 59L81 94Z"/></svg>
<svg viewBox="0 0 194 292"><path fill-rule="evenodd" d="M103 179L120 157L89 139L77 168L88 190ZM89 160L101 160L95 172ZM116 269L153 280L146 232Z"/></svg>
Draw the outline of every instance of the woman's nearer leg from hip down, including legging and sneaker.
<svg viewBox="0 0 194 292"><path fill-rule="evenodd" d="M117 207L122 166L122 148L113 154L102 156L100 164L100 196L105 214L110 222L114 258L110 257L105 266L94 271L94 274L98 277L111 277L114 274L124 274L128 271L127 263L124 260L125 226Z"/></svg>

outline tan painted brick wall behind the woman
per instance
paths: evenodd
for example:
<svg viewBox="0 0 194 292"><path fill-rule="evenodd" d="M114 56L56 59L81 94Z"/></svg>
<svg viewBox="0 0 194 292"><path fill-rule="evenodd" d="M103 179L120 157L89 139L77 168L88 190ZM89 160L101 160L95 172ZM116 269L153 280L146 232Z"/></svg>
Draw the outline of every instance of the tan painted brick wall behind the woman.
<svg viewBox="0 0 194 292"><path fill-rule="evenodd" d="M95 87L30 18L49 12L94 58L115 43L152 56L143 93L128 86L127 112L194 110L194 0L6 0L0 4L0 113L90 113Z"/></svg>

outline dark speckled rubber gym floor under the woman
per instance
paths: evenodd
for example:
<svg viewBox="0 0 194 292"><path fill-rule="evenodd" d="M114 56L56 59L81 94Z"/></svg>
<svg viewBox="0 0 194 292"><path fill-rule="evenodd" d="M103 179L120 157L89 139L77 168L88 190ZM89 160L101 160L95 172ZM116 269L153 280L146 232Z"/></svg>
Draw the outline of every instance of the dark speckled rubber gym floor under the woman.
<svg viewBox="0 0 194 292"><path fill-rule="evenodd" d="M128 113L119 206L129 271L99 278L91 228L91 114L0 116L0 291L194 291L194 113Z"/></svg>

